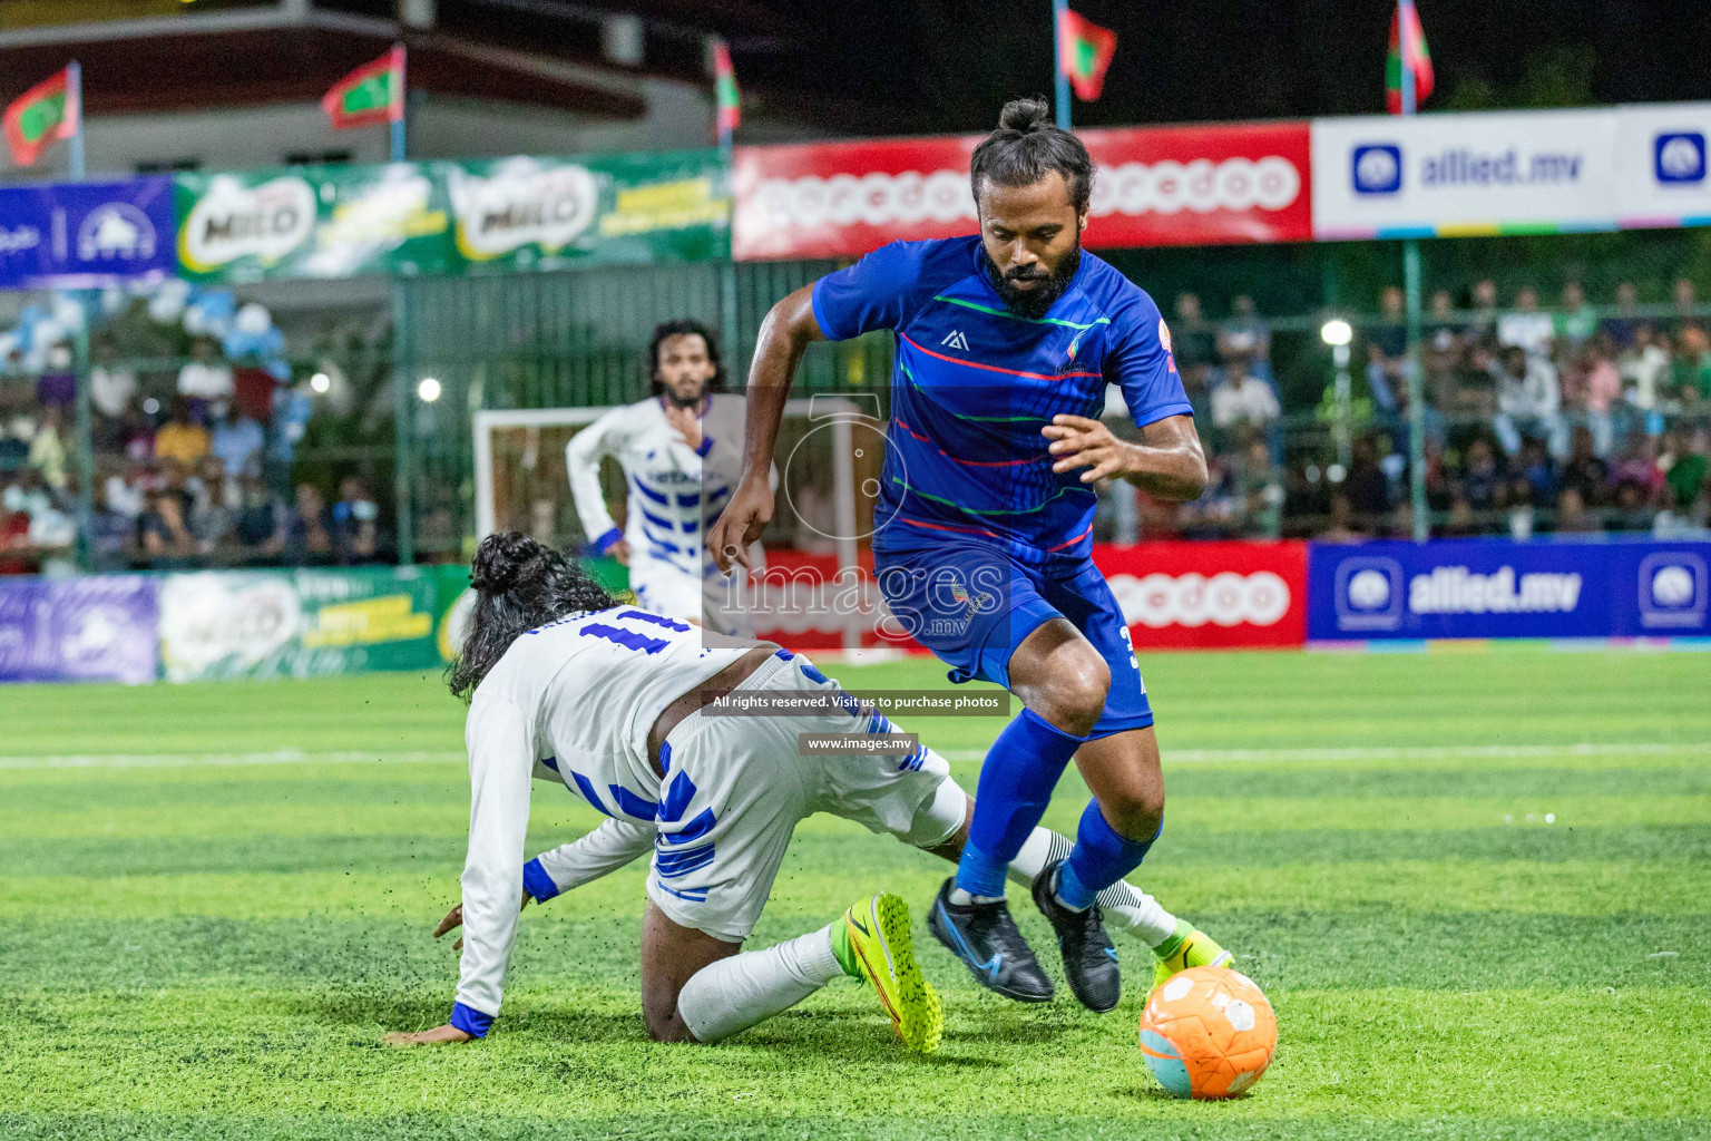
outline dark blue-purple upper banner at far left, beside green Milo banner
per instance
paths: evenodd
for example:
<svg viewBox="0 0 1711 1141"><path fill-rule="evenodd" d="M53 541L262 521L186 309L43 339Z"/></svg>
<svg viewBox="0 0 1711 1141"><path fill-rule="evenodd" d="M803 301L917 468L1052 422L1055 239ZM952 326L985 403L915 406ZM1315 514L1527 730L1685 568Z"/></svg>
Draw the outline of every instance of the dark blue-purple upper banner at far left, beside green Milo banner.
<svg viewBox="0 0 1711 1141"><path fill-rule="evenodd" d="M173 181L0 186L0 289L89 289L173 272Z"/></svg>

